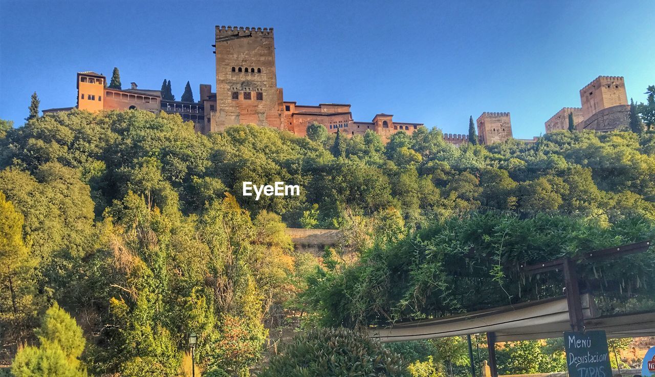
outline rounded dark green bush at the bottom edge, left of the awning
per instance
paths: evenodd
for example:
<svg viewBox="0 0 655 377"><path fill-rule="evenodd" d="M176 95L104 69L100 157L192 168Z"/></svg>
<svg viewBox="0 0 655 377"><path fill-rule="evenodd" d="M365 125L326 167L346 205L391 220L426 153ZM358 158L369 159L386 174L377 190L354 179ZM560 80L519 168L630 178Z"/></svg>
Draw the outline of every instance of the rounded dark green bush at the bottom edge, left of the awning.
<svg viewBox="0 0 655 377"><path fill-rule="evenodd" d="M300 334L272 357L259 377L409 376L399 355L379 342L346 328L321 328Z"/></svg>

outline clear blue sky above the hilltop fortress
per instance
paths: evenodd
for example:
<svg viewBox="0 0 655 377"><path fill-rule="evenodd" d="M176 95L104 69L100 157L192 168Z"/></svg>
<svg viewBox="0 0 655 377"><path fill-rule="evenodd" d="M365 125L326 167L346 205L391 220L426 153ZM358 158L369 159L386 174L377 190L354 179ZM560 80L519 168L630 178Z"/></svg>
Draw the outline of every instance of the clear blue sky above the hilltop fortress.
<svg viewBox="0 0 655 377"><path fill-rule="evenodd" d="M0 118L75 106L77 71L176 98L215 87L214 26L272 27L278 87L299 104L352 104L355 120L466 133L468 117L510 111L514 136L579 107L599 75L628 98L655 83L655 1L12 1L0 0Z"/></svg>

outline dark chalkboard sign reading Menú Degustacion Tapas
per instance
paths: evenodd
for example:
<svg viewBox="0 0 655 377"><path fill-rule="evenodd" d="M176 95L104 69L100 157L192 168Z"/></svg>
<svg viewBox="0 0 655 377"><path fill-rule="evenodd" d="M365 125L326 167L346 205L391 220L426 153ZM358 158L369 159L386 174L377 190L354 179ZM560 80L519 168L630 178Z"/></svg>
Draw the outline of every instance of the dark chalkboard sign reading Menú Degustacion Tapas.
<svg viewBox="0 0 655 377"><path fill-rule="evenodd" d="M565 332L569 377L612 377L605 331Z"/></svg>

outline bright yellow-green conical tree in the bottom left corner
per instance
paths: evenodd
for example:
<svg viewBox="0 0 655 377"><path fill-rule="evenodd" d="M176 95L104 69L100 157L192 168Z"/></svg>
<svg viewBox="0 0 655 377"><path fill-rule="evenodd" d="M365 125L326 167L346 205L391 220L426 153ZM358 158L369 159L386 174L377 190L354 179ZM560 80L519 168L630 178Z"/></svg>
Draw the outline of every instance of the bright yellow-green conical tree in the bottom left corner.
<svg viewBox="0 0 655 377"><path fill-rule="evenodd" d="M15 377L84 377L86 370L79 357L84 351L84 336L75 319L55 303L35 330L39 346L20 349L12 363Z"/></svg>

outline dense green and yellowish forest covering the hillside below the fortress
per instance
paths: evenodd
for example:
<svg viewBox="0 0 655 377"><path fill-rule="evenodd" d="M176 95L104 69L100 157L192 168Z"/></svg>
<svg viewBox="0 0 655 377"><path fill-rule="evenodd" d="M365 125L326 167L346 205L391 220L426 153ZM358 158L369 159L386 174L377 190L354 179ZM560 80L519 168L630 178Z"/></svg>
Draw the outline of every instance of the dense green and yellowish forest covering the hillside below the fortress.
<svg viewBox="0 0 655 377"><path fill-rule="evenodd" d="M374 132L307 133L239 125L203 135L145 111L0 121L0 357L18 351L12 373L33 375L38 359L59 360L62 376L178 376L195 332L204 376L248 376L283 328L557 296L561 278L525 277L518 264L655 238L652 132L460 148L438 129L387 144ZM297 184L301 195L255 201L244 181ZM320 256L297 252L287 227L341 229L343 240ZM653 308L654 257L580 266L584 288L606 313ZM345 335L312 332L287 355L321 336ZM440 355L461 345L430 344ZM407 375L432 376L433 355L418 348L380 352L388 370L404 368L396 352L417 361Z"/></svg>

